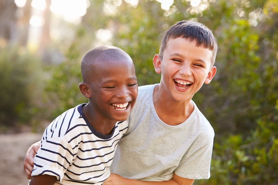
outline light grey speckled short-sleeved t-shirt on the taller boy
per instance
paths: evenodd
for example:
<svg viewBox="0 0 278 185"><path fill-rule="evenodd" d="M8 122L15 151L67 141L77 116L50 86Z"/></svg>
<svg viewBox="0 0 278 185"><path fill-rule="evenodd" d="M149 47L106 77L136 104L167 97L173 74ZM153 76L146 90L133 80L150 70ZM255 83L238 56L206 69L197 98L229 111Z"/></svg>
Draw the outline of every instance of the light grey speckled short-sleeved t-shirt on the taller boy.
<svg viewBox="0 0 278 185"><path fill-rule="evenodd" d="M120 139L111 172L129 179L166 181L173 173L187 179L208 179L214 131L196 104L182 124L162 122L154 109L155 85L141 86Z"/></svg>

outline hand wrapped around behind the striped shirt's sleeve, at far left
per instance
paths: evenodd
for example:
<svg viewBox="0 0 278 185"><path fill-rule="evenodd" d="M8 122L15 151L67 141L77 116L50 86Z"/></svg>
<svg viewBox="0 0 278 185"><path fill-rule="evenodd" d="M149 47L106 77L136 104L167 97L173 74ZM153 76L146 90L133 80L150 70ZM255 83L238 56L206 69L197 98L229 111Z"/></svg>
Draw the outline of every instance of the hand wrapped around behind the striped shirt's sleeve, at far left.
<svg viewBox="0 0 278 185"><path fill-rule="evenodd" d="M40 141L31 145L30 148L27 150L24 159L24 167L23 167L27 179L32 178L31 174L32 174L32 170L34 169L34 156L36 155L39 148L40 148Z"/></svg>

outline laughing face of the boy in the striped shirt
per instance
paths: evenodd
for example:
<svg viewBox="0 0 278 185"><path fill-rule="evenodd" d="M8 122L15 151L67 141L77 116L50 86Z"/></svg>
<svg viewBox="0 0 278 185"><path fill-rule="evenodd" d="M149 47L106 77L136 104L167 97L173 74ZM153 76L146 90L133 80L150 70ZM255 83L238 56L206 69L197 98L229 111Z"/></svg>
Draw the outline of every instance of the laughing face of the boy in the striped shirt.
<svg viewBox="0 0 278 185"><path fill-rule="evenodd" d="M133 108L138 85L131 60L105 61L96 64L96 71L87 82L91 111L104 120L126 120Z"/></svg>

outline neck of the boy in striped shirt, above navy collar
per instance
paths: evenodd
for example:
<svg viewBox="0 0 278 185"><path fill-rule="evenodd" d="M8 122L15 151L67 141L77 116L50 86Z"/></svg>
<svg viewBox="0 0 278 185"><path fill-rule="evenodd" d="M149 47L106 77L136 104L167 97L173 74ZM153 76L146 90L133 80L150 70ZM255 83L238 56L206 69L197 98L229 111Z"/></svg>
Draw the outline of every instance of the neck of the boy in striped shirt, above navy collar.
<svg viewBox="0 0 278 185"><path fill-rule="evenodd" d="M102 119L97 115L94 115L94 111L91 110L90 104L87 103L82 107L82 111L86 116L89 123L93 126L93 128L103 135L112 134L113 128L116 124L115 120L110 119Z"/></svg>

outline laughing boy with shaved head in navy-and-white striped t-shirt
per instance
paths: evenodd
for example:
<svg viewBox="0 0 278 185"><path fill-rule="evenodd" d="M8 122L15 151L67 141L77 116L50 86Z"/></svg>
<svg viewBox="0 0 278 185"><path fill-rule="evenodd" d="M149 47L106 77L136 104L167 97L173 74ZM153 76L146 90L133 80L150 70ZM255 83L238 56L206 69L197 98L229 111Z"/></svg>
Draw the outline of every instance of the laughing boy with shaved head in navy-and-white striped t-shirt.
<svg viewBox="0 0 278 185"><path fill-rule="evenodd" d="M81 73L79 89L89 103L65 111L46 128L30 185L101 185L110 175L137 98L133 61L120 48L100 46L85 54Z"/></svg>

